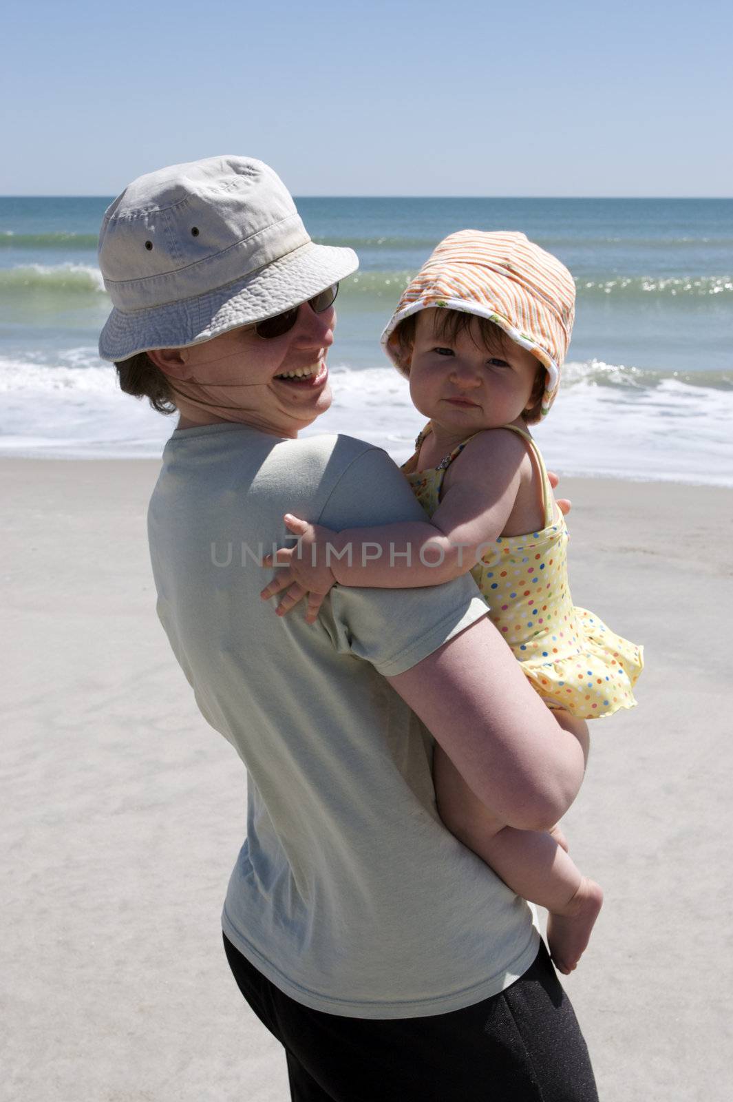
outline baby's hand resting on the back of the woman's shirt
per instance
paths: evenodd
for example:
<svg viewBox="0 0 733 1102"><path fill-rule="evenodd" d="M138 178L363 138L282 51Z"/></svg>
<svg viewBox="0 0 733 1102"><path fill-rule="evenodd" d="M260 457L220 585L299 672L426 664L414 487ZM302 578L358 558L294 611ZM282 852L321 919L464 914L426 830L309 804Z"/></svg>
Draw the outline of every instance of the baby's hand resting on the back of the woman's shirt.
<svg viewBox="0 0 733 1102"><path fill-rule="evenodd" d="M262 560L264 566L283 565L287 570L280 571L260 596L263 601L269 601L276 593L287 590L275 609L278 616L284 616L307 595L306 620L313 624L328 591L336 583L327 564L327 548L332 547L336 532L330 528L321 528L320 525L298 520L289 512L285 514L284 519L287 528L298 537L298 542L294 548L281 548L274 555L265 555Z"/></svg>

